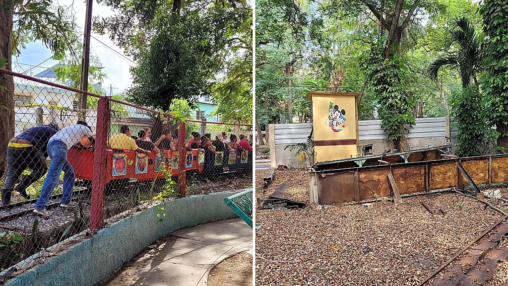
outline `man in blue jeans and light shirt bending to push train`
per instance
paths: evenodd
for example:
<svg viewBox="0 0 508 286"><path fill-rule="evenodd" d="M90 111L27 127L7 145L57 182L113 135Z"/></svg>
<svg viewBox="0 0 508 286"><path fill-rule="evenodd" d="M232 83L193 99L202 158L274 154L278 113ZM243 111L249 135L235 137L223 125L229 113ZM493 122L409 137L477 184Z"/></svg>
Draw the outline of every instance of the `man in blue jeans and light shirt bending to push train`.
<svg viewBox="0 0 508 286"><path fill-rule="evenodd" d="M51 158L51 164L42 186L41 197L39 197L35 205L35 214L43 217L51 215L51 213L46 210L46 206L48 205L51 192L53 192L58 184L58 178L62 171L65 174L63 175L63 190L60 207L76 207L77 204L71 201L72 190L74 188L74 169L67 160L67 152L71 147L78 144L82 137L88 137L92 143L95 141L91 129L86 122L78 121L76 125L63 127L49 139L47 152Z"/></svg>

